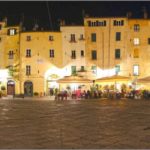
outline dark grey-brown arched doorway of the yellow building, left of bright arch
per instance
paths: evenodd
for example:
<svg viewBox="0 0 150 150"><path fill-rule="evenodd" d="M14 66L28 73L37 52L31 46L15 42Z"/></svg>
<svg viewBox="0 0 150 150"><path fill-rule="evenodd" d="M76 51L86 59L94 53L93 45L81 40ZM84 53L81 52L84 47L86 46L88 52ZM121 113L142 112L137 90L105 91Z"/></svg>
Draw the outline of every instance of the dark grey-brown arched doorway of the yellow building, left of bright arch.
<svg viewBox="0 0 150 150"><path fill-rule="evenodd" d="M24 96L33 96L33 83L31 81L24 82Z"/></svg>

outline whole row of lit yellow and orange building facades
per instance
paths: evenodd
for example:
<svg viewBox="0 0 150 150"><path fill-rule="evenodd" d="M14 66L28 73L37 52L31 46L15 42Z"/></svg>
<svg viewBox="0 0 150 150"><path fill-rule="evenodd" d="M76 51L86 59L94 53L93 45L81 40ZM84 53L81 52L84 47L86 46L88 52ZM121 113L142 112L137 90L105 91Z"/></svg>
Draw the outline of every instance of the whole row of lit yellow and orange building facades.
<svg viewBox="0 0 150 150"><path fill-rule="evenodd" d="M100 82L127 77L134 88L137 79L149 76L147 18L85 17L84 25L63 24L58 32L21 31L20 26L8 27L6 20L0 28L0 67L8 69L1 85L7 94L49 94L50 88L60 88L57 80L71 75Z"/></svg>

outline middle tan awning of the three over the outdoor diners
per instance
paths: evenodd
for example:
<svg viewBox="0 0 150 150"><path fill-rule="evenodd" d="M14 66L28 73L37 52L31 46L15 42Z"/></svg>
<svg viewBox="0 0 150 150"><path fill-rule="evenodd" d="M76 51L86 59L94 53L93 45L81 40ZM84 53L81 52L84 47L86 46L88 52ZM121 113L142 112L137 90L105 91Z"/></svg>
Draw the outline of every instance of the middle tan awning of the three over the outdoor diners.
<svg viewBox="0 0 150 150"><path fill-rule="evenodd" d="M114 75L109 77L103 77L96 80L96 82L116 82L116 81L128 81L130 77Z"/></svg>

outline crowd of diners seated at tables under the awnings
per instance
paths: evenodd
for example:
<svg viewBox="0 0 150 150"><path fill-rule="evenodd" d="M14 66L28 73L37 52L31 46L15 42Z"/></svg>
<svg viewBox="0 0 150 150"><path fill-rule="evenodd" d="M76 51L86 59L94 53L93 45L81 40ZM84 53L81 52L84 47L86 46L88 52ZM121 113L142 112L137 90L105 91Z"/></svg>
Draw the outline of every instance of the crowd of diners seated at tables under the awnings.
<svg viewBox="0 0 150 150"><path fill-rule="evenodd" d="M120 98L129 98L129 99L150 99L150 91L148 90L131 90L131 91L110 91L110 90L75 90L68 91L63 90L59 91L58 89L51 89L50 96L55 96L56 100L67 100L71 99L97 99L97 98L108 98L108 99L120 99Z"/></svg>

